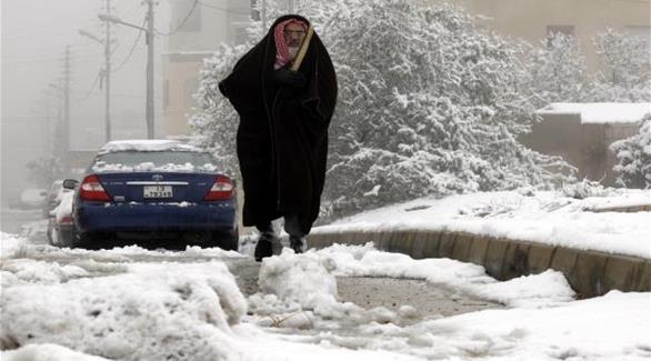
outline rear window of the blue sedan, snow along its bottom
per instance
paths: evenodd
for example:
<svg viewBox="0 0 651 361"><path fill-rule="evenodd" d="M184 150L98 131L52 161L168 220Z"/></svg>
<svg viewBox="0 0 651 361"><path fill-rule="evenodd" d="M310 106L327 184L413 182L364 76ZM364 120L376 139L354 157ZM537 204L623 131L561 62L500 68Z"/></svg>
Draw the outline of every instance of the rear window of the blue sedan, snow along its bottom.
<svg viewBox="0 0 651 361"><path fill-rule="evenodd" d="M188 151L123 151L97 157L93 172L109 171L187 171L213 172L216 160L204 152Z"/></svg>

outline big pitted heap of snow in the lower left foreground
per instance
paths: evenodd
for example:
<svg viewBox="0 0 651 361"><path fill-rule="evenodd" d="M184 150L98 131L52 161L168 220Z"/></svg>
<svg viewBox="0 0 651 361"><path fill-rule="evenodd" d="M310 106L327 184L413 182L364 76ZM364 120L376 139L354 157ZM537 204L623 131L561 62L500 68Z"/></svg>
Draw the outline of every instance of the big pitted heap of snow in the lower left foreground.
<svg viewBox="0 0 651 361"><path fill-rule="evenodd" d="M121 360L240 354L228 345L247 303L223 263L128 268L118 275L4 289L0 305L11 322L2 322L0 341L56 343Z"/></svg>

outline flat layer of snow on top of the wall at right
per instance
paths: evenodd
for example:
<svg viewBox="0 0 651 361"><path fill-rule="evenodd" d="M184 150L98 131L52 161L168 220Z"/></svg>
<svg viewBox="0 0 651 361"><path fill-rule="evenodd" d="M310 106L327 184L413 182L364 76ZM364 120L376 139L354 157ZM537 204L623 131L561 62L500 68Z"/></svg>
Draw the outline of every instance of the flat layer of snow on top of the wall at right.
<svg viewBox="0 0 651 361"><path fill-rule="evenodd" d="M551 103L537 114L579 114L581 123L637 123L651 113L651 103Z"/></svg>

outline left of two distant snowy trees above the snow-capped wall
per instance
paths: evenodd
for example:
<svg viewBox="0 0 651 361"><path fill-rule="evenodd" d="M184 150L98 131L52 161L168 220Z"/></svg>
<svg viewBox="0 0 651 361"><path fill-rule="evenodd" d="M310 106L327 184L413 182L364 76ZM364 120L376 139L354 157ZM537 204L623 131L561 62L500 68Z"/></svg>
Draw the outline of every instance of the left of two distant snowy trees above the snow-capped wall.
<svg viewBox="0 0 651 361"><path fill-rule="evenodd" d="M574 37L552 33L530 53L527 83L537 107L582 100L588 74L585 58Z"/></svg>

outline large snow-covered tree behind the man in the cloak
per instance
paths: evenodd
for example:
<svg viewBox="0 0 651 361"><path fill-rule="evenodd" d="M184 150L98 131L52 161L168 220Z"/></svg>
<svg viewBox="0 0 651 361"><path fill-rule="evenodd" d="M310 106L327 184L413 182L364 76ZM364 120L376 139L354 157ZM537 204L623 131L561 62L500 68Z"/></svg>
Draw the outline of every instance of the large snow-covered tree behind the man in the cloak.
<svg viewBox="0 0 651 361"><path fill-rule="evenodd" d="M331 215L558 179L545 167L562 162L517 140L535 109L520 91L527 68L517 44L450 6L306 0L297 12L316 26L338 72L322 202ZM243 51L220 49L198 94L194 129L223 158L234 157L237 119L217 82Z"/></svg>

